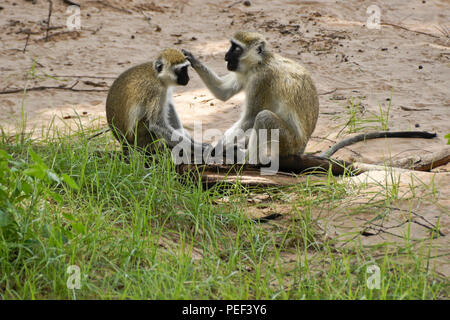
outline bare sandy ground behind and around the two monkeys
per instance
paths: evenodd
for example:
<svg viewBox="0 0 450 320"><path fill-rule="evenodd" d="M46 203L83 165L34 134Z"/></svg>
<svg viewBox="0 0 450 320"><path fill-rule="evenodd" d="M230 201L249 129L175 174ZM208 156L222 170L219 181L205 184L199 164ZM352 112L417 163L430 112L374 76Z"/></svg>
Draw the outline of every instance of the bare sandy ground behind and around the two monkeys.
<svg viewBox="0 0 450 320"><path fill-rule="evenodd" d="M372 140L339 151L337 158L382 163L421 155L442 149L446 143L443 136L450 133L448 0L252 0L250 6L234 0L77 1L82 30L68 32L67 5L53 0L48 41L47 1L1 2L0 91L25 86L70 87L76 81L74 89L101 90L0 94L0 126L4 129L14 129L22 106L30 127L45 128L55 115L63 127L62 120L77 121L71 119L76 113L86 124L105 127L106 90L127 68L152 59L164 47L176 47L192 51L224 74L230 36L237 30L256 30L267 36L272 50L302 63L316 83L321 111L307 151L323 150L345 136L346 130L341 130L349 119L350 98L360 102L358 115L366 119L379 113L380 106L386 110L392 98L390 130L426 130L436 132L438 138ZM366 10L371 4L381 10L379 30L366 26ZM239 117L243 94L220 102L195 72L190 75L189 85L175 90L183 124L192 129L197 120L203 121L203 129L225 131ZM379 126L363 124L368 125ZM430 182L431 176L424 174L420 179ZM436 181L441 190L449 189L448 174L441 174ZM440 206L428 211L442 212L444 208L448 220L448 193L442 193L440 201ZM449 232L447 220L445 233ZM448 241L443 245L448 249ZM450 274L448 265L443 272Z"/></svg>

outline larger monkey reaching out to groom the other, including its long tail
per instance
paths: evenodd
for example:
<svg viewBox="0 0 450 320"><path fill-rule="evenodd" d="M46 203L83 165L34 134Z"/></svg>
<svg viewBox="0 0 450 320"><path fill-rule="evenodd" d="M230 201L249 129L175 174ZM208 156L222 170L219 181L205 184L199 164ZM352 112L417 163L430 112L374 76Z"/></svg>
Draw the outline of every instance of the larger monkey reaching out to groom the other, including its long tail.
<svg viewBox="0 0 450 320"><path fill-rule="evenodd" d="M247 155L257 159L260 147L267 152L268 145L259 146L260 129L279 129L279 156L299 155L315 129L319 115L319 99L309 73L293 60L270 51L265 38L254 32L237 32L231 38L231 47L225 54L227 69L223 77L201 63L189 51L183 53L202 81L219 100L226 101L245 91L245 106L240 119L228 129L222 141L225 148L234 144L242 131L252 130L245 137ZM330 157L338 149L365 139L380 137L433 138L427 132L374 132L344 139L320 156ZM276 156L276 155L271 155ZM259 160L259 159L258 159Z"/></svg>

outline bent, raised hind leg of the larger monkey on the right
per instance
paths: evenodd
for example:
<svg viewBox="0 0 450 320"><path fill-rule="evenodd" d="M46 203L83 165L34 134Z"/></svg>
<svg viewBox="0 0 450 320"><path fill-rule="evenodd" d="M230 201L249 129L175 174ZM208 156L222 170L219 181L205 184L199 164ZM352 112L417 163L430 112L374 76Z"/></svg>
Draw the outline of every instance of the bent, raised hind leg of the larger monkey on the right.
<svg viewBox="0 0 450 320"><path fill-rule="evenodd" d="M268 156L273 159L273 157L298 153L293 150L297 144L296 141L298 141L295 131L274 112L269 110L259 112L256 115L253 129L248 143L250 163L267 162ZM260 131L264 129L267 130L266 137L264 137L264 132ZM278 139L276 138L276 132L272 130L278 130ZM264 138L267 138L267 140ZM277 143L278 150L276 150Z"/></svg>

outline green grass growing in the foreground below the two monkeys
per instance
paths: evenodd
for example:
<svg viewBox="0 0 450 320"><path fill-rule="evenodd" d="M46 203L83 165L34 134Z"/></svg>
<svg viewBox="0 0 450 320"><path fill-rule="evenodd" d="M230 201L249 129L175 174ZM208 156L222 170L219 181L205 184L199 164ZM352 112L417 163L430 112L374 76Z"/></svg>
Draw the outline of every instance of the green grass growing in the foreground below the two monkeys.
<svg viewBox="0 0 450 320"><path fill-rule="evenodd" d="M124 162L110 134L89 141L82 127L49 132L0 139L0 299L448 297L448 280L410 239L370 247L356 237L342 247L324 235L322 215L342 206L351 187L341 179L204 190L177 175L167 154L146 167L137 153ZM288 206L287 218L249 219L255 193ZM366 285L373 264L380 289ZM71 265L80 268L80 289L67 287Z"/></svg>

